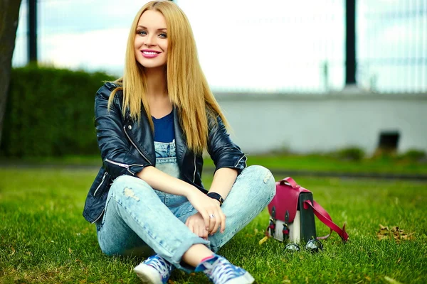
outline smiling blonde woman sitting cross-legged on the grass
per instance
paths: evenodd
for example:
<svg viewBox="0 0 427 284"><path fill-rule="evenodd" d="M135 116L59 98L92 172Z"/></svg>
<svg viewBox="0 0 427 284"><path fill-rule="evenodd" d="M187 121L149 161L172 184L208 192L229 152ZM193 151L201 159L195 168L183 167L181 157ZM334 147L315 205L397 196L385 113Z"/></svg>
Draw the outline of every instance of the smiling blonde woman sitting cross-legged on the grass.
<svg viewBox="0 0 427 284"><path fill-rule="evenodd" d="M253 283L216 252L275 194L270 171L246 168L201 71L194 37L172 1L151 1L135 16L125 72L95 97L103 166L83 215L108 255L150 256L134 271L167 283L172 268L202 271L214 283ZM201 182L202 153L216 170Z"/></svg>

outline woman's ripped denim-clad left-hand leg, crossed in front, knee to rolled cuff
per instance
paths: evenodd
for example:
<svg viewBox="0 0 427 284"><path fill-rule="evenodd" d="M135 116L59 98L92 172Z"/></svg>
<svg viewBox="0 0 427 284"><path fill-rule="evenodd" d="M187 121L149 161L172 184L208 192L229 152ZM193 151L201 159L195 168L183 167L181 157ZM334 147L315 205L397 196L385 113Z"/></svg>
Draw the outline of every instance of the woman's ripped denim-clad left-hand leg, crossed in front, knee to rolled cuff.
<svg viewBox="0 0 427 284"><path fill-rule="evenodd" d="M126 175L110 188L97 234L102 251L108 255L147 255L151 248L177 267L191 246L209 245L172 214L147 182Z"/></svg>

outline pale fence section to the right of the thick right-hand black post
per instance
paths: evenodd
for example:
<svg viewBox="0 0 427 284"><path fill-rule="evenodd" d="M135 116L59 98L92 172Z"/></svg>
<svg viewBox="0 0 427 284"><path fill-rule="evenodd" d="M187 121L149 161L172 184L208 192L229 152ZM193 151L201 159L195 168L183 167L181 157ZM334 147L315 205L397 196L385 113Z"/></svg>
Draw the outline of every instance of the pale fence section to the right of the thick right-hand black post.
<svg viewBox="0 0 427 284"><path fill-rule="evenodd" d="M359 84L375 92L427 92L427 1L357 4Z"/></svg>

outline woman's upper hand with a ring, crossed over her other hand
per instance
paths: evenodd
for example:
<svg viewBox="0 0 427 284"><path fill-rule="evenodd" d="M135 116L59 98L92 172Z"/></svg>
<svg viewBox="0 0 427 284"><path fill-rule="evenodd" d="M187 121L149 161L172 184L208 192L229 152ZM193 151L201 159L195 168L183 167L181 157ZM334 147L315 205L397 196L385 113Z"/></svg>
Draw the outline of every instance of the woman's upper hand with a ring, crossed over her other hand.
<svg viewBox="0 0 427 284"><path fill-rule="evenodd" d="M223 231L226 229L226 215L223 214L221 207L219 206L218 200L214 200L211 197L204 195L203 192L197 189L192 190L188 195L186 195L186 197L191 203L191 205L193 205L194 209L199 212L198 214L200 214L200 217L203 219L204 231L206 231L207 234L215 234L216 231L218 231L219 227L221 227L221 233L223 233ZM189 217L189 219L191 217ZM192 219L195 218L196 217ZM190 221L194 221L192 219ZM195 231L193 232L195 234L198 234Z"/></svg>

